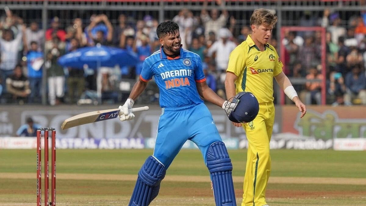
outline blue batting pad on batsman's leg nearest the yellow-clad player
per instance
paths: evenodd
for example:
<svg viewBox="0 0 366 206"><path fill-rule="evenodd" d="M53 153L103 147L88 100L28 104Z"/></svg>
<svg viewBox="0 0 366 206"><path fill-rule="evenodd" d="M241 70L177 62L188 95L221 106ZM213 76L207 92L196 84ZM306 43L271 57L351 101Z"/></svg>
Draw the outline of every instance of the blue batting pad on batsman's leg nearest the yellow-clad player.
<svg viewBox="0 0 366 206"><path fill-rule="evenodd" d="M209 147L207 168L211 173L216 206L236 206L231 159L222 141Z"/></svg>

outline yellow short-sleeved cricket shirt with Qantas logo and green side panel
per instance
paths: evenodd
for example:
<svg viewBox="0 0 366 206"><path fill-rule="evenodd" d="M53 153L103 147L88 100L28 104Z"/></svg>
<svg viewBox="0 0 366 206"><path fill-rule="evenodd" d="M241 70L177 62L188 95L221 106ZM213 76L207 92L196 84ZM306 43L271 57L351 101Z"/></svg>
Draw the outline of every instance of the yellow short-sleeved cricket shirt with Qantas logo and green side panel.
<svg viewBox="0 0 366 206"><path fill-rule="evenodd" d="M251 92L260 103L273 102L273 77L282 72L283 64L276 49L269 44L259 51L251 35L230 54L228 69L238 78L236 93Z"/></svg>

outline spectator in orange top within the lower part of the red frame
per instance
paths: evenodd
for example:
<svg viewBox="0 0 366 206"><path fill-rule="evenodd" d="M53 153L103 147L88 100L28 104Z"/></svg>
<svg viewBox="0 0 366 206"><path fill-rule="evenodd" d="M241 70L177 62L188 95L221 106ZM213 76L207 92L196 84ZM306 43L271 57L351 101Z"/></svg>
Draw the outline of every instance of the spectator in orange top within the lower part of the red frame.
<svg viewBox="0 0 366 206"><path fill-rule="evenodd" d="M323 80L322 74L318 73L317 67L310 67L309 74L306 76L307 80ZM321 81L306 82L306 91L301 92L300 96L305 104L321 104Z"/></svg>

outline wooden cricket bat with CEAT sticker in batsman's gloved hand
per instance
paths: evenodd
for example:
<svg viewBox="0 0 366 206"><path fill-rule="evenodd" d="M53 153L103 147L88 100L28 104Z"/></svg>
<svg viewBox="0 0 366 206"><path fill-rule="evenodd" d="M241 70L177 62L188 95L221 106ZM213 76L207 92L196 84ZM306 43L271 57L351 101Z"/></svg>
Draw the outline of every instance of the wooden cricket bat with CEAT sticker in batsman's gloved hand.
<svg viewBox="0 0 366 206"><path fill-rule="evenodd" d="M148 106L136 107L131 109L132 112L147 111L147 110L149 110ZM65 121L61 125L61 129L68 129L74 126L80 126L93 122L104 121L107 119L114 119L118 117L119 111L120 109L111 109L111 110L91 111L83 114L78 114L73 117L65 119Z"/></svg>

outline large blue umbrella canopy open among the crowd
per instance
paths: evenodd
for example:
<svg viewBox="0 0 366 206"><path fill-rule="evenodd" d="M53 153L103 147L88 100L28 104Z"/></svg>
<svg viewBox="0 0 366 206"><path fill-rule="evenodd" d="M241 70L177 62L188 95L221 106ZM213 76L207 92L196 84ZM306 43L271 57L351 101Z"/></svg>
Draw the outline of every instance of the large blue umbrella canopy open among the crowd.
<svg viewBox="0 0 366 206"><path fill-rule="evenodd" d="M99 67L114 67L119 65L134 66L138 63L135 54L125 49L97 45L96 47L84 47L61 56L59 65L83 69L87 65L90 69Z"/></svg>

